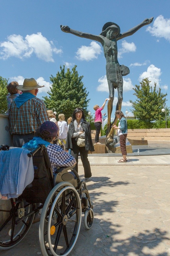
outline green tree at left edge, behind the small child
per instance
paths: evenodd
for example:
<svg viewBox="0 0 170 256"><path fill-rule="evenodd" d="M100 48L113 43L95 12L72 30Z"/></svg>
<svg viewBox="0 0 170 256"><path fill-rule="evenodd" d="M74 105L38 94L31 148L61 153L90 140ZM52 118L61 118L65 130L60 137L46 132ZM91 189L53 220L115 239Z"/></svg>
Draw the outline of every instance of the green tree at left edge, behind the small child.
<svg viewBox="0 0 170 256"><path fill-rule="evenodd" d="M7 101L6 101L6 96L8 94L7 91L7 86L8 80L6 78L3 78L0 76L0 113L1 114L6 114L7 113Z"/></svg>

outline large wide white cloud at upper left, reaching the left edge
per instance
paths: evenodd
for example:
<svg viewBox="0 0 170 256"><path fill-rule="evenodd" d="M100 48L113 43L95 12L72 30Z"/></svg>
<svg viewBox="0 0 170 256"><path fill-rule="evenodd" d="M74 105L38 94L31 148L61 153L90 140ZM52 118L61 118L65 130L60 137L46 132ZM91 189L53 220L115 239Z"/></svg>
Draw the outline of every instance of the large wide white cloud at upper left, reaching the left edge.
<svg viewBox="0 0 170 256"><path fill-rule="evenodd" d="M53 46L52 41L48 41L40 32L26 35L25 39L21 35L10 35L8 41L0 43L2 47L0 59L16 57L19 59L30 58L33 53L36 57L46 62L54 62L53 52L59 54L61 49Z"/></svg>

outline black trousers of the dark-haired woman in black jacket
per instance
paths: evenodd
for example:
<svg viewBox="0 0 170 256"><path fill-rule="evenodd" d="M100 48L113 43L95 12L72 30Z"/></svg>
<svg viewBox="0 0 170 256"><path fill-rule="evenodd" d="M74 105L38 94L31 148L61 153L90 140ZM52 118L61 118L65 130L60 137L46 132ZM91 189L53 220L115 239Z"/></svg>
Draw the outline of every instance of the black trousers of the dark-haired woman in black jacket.
<svg viewBox="0 0 170 256"><path fill-rule="evenodd" d="M80 153L81 161L84 168L84 177L89 178L92 176L90 163L88 160L88 150L85 150L85 147L77 146L77 141L75 139L72 140L72 149L71 155L76 159L76 166L74 167L75 171L78 173L78 157Z"/></svg>

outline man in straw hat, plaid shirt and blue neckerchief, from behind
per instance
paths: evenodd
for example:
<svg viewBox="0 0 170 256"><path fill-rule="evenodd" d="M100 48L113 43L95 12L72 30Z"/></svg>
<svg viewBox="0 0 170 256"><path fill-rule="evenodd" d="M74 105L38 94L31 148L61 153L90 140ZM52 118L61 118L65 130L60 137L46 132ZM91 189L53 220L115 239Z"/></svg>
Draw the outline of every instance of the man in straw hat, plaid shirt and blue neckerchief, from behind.
<svg viewBox="0 0 170 256"><path fill-rule="evenodd" d="M49 121L46 107L42 100L36 98L39 86L34 78L25 78L23 85L17 86L22 91L12 102L9 109L10 132L15 147L22 147L31 140L37 128Z"/></svg>

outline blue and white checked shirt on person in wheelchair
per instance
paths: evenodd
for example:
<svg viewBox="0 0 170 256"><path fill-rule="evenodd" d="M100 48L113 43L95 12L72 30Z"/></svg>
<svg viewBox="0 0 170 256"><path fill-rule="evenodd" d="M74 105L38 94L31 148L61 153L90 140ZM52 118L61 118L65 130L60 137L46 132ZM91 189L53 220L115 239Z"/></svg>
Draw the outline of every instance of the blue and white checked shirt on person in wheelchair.
<svg viewBox="0 0 170 256"><path fill-rule="evenodd" d="M76 164L75 158L56 144L50 143L47 146L47 152L52 165L53 173L59 167L73 166Z"/></svg>

